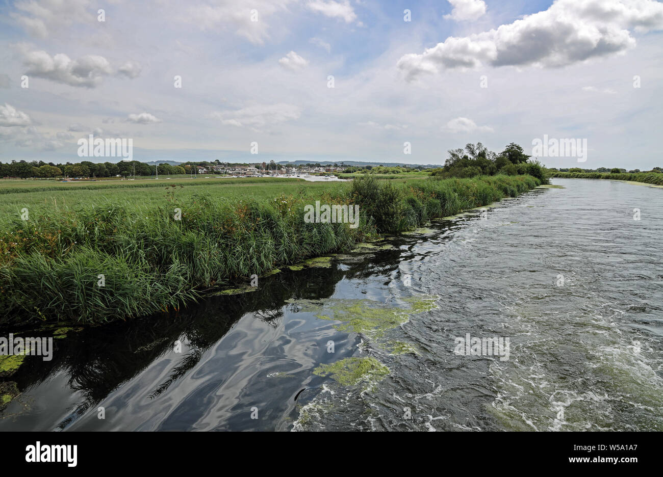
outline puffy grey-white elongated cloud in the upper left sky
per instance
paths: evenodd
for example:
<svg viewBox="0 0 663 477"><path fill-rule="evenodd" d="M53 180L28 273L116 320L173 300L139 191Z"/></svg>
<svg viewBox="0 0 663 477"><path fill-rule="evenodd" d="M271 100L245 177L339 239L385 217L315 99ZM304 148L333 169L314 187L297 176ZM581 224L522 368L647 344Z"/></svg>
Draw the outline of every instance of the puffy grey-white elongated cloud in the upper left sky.
<svg viewBox="0 0 663 477"><path fill-rule="evenodd" d="M25 52L23 63L27 74L71 86L96 87L103 76L113 72L108 60L99 55L72 60L64 53L50 56L44 50L35 50Z"/></svg>

